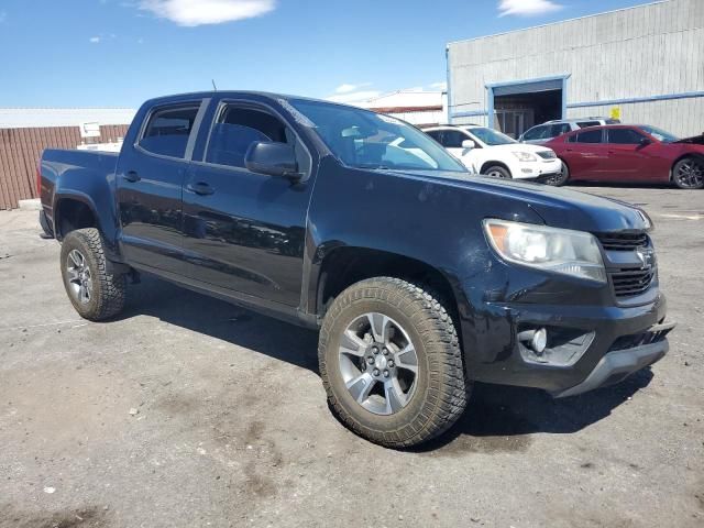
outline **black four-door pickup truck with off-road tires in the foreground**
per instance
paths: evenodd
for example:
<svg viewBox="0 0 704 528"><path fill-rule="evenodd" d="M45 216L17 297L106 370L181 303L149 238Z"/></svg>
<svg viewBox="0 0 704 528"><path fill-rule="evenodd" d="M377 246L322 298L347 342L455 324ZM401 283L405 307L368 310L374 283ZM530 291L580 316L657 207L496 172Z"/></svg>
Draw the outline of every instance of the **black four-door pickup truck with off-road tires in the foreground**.
<svg viewBox="0 0 704 528"><path fill-rule="evenodd" d="M40 185L78 314L117 315L150 273L317 328L332 408L384 446L448 429L474 381L571 396L668 350L644 211L471 176L366 110L154 99L119 155L46 151Z"/></svg>

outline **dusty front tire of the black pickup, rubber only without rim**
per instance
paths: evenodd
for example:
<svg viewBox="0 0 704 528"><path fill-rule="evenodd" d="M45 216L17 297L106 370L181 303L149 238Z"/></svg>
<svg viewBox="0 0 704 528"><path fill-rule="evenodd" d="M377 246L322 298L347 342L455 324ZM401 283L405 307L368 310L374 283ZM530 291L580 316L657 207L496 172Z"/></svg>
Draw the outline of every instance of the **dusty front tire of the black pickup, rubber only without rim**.
<svg viewBox="0 0 704 528"><path fill-rule="evenodd" d="M403 326L417 356L414 392L405 407L388 415L363 407L343 380L342 337L355 319L369 312ZM451 317L431 294L398 278L362 280L338 296L323 320L318 360L334 413L350 429L374 443L407 448L426 442L449 429L466 406L469 382ZM364 363L364 358L361 360Z"/></svg>

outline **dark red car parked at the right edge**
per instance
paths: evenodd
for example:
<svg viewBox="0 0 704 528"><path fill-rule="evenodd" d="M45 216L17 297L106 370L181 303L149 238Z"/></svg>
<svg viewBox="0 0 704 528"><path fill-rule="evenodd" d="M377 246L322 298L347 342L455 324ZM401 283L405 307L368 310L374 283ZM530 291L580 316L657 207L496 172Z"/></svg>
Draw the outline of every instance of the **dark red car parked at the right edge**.
<svg viewBox="0 0 704 528"><path fill-rule="evenodd" d="M674 183L704 187L704 134L680 140L650 125L575 130L544 143L562 160L562 174L546 180Z"/></svg>

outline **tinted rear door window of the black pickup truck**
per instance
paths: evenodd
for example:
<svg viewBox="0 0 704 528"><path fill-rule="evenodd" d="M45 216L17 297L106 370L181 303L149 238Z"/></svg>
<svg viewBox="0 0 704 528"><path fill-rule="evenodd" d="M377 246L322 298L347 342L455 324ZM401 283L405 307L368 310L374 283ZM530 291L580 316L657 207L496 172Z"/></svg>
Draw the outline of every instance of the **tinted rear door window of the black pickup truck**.
<svg viewBox="0 0 704 528"><path fill-rule="evenodd" d="M139 145L161 156L184 158L200 105L177 105L154 110Z"/></svg>

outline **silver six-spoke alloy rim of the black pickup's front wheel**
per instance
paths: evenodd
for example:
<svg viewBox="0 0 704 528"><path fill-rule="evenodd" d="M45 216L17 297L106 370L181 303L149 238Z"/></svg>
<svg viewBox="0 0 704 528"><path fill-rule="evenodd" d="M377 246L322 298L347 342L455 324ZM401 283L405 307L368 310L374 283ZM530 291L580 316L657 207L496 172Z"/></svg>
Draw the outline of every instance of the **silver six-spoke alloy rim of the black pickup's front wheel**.
<svg viewBox="0 0 704 528"><path fill-rule="evenodd" d="M418 354L408 332L392 318L369 312L342 333L339 366L354 400L375 415L394 415L411 400Z"/></svg>

